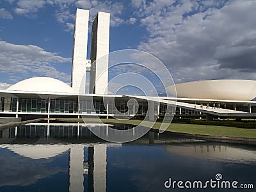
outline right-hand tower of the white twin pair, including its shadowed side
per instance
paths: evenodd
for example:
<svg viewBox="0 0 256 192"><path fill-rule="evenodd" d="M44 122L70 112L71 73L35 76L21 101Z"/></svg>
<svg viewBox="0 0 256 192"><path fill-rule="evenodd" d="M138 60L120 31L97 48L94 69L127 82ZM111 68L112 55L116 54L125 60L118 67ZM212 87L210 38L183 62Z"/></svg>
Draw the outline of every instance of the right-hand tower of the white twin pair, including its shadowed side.
<svg viewBox="0 0 256 192"><path fill-rule="evenodd" d="M110 13L104 12L99 12L93 20L90 93L108 94L109 22Z"/></svg>

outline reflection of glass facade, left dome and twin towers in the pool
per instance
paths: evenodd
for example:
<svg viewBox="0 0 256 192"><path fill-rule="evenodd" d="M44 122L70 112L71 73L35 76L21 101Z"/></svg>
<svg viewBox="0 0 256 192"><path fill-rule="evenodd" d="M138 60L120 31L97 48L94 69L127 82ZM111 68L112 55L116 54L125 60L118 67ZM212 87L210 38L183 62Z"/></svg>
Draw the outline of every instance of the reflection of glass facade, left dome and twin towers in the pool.
<svg viewBox="0 0 256 192"><path fill-rule="evenodd" d="M30 159L49 159L68 152L69 191L106 191L107 147L120 147L121 144L105 143L104 141L90 144L74 142L72 144L72 140L69 140L71 143L67 143L67 140L63 140L63 138L74 138L77 141L77 132L81 133L79 136L81 139L90 140L95 136L85 127L77 124L37 126L38 124L29 124L1 131L0 143L3 144L0 145L0 148L7 148L19 156ZM15 132L13 129L17 129L16 136L13 134ZM49 138L47 138L47 129ZM20 141L22 143L24 138L30 138L29 140L36 138L36 140L33 140L33 145L17 144ZM15 145L13 145L14 143ZM49 145L49 143L55 144ZM87 148L85 153L87 158L84 157L84 148ZM86 189L84 188L84 178L87 179Z"/></svg>

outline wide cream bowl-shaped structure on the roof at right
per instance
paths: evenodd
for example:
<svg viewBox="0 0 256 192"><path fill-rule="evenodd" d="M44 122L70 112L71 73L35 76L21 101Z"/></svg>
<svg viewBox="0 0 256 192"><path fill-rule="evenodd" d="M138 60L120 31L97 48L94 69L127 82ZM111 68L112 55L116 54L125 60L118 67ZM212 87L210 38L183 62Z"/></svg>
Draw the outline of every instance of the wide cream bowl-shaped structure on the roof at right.
<svg viewBox="0 0 256 192"><path fill-rule="evenodd" d="M175 90L176 88L176 90ZM256 81L220 79L193 81L168 86L169 93L193 99L252 100L256 97Z"/></svg>

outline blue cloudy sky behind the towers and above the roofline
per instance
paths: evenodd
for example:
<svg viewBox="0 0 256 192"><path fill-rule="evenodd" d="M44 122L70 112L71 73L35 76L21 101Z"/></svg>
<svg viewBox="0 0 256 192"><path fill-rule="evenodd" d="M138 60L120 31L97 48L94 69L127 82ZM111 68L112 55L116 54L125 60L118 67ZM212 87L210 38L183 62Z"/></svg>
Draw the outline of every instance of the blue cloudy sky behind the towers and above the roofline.
<svg viewBox="0 0 256 192"><path fill-rule="evenodd" d="M0 89L36 76L70 83L76 8L111 13L109 51L148 52L175 83L256 78L255 0L1 0Z"/></svg>

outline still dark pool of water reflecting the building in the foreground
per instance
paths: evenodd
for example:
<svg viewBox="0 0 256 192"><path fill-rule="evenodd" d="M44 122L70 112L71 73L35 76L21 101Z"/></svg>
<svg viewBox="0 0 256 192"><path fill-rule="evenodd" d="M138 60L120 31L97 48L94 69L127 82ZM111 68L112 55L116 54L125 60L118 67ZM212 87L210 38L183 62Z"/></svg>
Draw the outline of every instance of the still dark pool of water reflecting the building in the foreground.
<svg viewBox="0 0 256 192"><path fill-rule="evenodd" d="M77 124L29 124L0 132L0 191L255 191L255 160L254 146L154 132L109 143ZM164 186L217 174L254 189Z"/></svg>

